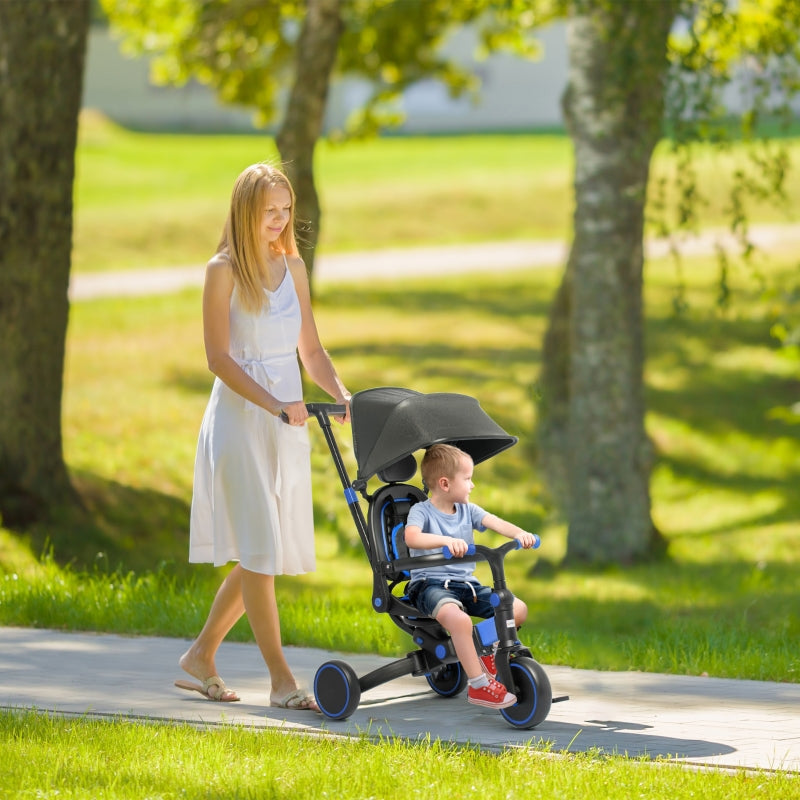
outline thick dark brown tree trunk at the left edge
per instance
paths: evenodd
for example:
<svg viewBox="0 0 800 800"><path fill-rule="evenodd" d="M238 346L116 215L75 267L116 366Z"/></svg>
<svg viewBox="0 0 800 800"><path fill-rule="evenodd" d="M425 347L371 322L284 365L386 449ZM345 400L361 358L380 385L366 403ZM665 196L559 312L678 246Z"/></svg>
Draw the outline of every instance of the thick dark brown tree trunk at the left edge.
<svg viewBox="0 0 800 800"><path fill-rule="evenodd" d="M0 2L0 513L74 499L61 440L89 0Z"/></svg>

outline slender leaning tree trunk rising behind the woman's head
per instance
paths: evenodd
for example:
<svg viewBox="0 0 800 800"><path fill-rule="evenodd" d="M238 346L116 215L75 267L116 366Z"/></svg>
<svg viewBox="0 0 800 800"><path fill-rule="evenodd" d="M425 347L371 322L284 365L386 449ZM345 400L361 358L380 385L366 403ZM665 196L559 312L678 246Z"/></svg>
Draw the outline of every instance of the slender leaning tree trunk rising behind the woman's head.
<svg viewBox="0 0 800 800"><path fill-rule="evenodd" d="M322 135L331 73L344 30L341 0L308 0L297 42L295 79L286 117L276 137L297 195L298 246L309 275L322 214L314 183L314 148Z"/></svg>

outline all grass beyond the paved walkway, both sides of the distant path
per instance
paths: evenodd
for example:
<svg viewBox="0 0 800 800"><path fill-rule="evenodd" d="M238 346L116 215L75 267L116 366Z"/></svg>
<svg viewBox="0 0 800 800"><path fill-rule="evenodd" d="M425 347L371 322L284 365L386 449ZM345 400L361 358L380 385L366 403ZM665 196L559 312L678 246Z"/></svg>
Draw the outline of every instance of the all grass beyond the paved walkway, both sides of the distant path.
<svg viewBox="0 0 800 800"><path fill-rule="evenodd" d="M570 143L551 127L323 144L321 248L566 240ZM201 265L233 176L275 157L263 134L143 132L87 109L73 270ZM658 157L657 168L674 168L666 149ZM735 148L709 152L704 174L736 158ZM751 219L794 223L769 204L756 205ZM720 220L712 203L706 224ZM770 334L776 287L797 264L793 248L776 241L757 268L733 270L725 307L713 257L684 261L681 314L674 263L648 262L653 513L669 549L662 562L624 568L559 569L563 522L533 464L538 350L557 268L487 264L465 275L316 287L323 339L351 389L382 383L474 394L520 436L479 469L475 496L542 534L534 563L521 555L509 571L535 609L526 643L544 663L798 680L800 463L786 411L796 402L797 362ZM196 290L74 304L65 453L92 519L2 530L4 623L196 632L217 580L183 563L196 430L211 381L204 363ZM286 582L285 639L395 653L401 644L388 621L370 609L368 566L321 438L314 472L320 570ZM234 636L248 639L246 624Z"/></svg>

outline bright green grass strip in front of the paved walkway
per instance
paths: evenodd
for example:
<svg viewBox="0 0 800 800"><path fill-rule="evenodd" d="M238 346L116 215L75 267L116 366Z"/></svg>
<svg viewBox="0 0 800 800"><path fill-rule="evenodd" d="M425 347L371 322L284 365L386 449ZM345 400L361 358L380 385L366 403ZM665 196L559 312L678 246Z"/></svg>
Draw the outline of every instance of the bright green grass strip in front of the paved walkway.
<svg viewBox="0 0 800 800"><path fill-rule="evenodd" d="M406 800L489 797L790 800L786 774L697 772L668 763L499 754L439 741L289 736L0 712L0 797Z"/></svg>

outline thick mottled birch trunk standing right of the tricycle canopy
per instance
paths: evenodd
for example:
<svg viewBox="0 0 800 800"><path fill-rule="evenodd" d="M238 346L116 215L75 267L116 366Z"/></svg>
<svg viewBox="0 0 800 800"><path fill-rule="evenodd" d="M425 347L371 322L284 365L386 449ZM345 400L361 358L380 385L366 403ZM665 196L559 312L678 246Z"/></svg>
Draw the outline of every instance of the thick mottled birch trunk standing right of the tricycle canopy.
<svg viewBox="0 0 800 800"><path fill-rule="evenodd" d="M643 230L677 5L574 3L567 25L575 238L543 348L539 439L570 561L625 563L660 540L644 426Z"/></svg>

